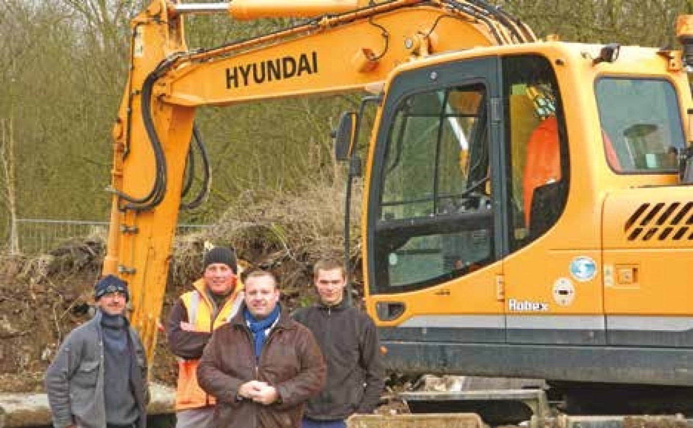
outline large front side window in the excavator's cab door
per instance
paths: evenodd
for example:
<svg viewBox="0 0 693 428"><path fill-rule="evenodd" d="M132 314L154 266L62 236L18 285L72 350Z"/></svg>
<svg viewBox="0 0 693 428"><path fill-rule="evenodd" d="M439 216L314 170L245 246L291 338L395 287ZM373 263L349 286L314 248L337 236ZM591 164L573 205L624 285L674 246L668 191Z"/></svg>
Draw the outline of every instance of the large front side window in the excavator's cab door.
<svg viewBox="0 0 693 428"><path fill-rule="evenodd" d="M398 102L376 224L381 290L435 285L491 261L486 103L481 83Z"/></svg>

